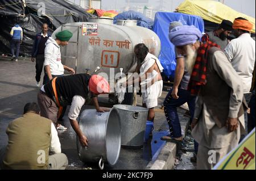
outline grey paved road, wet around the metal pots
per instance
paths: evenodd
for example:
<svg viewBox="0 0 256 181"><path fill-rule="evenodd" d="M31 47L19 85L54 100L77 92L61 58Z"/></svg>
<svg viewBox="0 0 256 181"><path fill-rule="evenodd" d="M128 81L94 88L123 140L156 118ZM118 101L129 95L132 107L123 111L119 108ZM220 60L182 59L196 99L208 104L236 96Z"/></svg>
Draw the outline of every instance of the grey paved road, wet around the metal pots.
<svg viewBox="0 0 256 181"><path fill-rule="evenodd" d="M43 77L43 75L42 75ZM35 81L35 63L30 58L19 60L19 62L10 61L9 58L0 58L0 150L7 145L7 135L5 130L10 121L19 117L23 113L24 104L27 102L37 102L38 93ZM159 98L159 108L161 107L167 92L163 91ZM138 96L138 106L141 105L141 98ZM105 97L100 98L100 102L107 102ZM85 106L84 108L92 108ZM59 132L61 148L63 153L67 154L69 159L68 169L85 169L92 167L97 169L96 165L84 165L79 160L76 149L76 134L71 128L67 119L67 112L64 116L64 124L68 131ZM163 110L158 109L155 116L155 131L166 130L168 128ZM157 140L161 142L161 140ZM121 149L117 164L107 169L144 169L152 157L151 145L148 142L142 149ZM159 144L158 144L159 145ZM155 148L152 150L156 150Z"/></svg>

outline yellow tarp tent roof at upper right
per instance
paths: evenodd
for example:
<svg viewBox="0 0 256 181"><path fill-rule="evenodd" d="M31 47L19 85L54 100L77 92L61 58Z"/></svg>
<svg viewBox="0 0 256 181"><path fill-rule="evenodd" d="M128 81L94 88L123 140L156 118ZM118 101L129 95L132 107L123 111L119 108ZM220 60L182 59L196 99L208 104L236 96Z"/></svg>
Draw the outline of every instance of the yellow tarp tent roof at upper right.
<svg viewBox="0 0 256 181"><path fill-rule="evenodd" d="M246 3L246 2L245 2ZM217 2L209 0L186 0L177 7L177 12L197 15L209 22L220 24L223 19L228 19L231 22L235 18L242 17L253 23L253 30L255 33L255 18L235 11L232 8Z"/></svg>

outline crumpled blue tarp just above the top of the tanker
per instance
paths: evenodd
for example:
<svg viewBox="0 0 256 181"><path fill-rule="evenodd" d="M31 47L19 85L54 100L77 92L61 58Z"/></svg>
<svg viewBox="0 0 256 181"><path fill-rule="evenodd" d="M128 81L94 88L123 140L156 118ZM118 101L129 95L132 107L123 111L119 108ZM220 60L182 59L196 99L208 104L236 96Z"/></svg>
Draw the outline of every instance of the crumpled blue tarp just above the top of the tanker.
<svg viewBox="0 0 256 181"><path fill-rule="evenodd" d="M145 27L150 30L152 30L154 21L150 18L147 18L145 15L143 15L141 12L136 12L136 11L125 11L117 16L114 17L114 24L117 23L118 19L131 19L131 20L137 20L137 26Z"/></svg>

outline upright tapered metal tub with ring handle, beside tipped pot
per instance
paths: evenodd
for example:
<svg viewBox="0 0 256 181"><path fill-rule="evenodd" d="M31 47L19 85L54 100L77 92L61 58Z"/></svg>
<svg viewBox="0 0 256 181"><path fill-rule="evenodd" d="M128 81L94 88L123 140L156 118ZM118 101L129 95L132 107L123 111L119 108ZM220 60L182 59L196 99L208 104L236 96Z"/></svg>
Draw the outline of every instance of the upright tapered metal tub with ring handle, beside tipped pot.
<svg viewBox="0 0 256 181"><path fill-rule="evenodd" d="M148 109L124 104L114 105L121 120L123 146L143 146Z"/></svg>

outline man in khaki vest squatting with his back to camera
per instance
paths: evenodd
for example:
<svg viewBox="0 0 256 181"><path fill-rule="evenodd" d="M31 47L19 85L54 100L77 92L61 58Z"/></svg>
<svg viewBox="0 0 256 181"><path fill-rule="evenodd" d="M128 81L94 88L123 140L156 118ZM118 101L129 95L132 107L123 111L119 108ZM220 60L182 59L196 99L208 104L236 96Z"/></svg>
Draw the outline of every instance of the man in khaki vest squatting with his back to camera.
<svg viewBox="0 0 256 181"><path fill-rule="evenodd" d="M37 103L27 103L22 117L9 123L3 169L64 170L68 158L61 153L60 140L52 121L40 116Z"/></svg>

